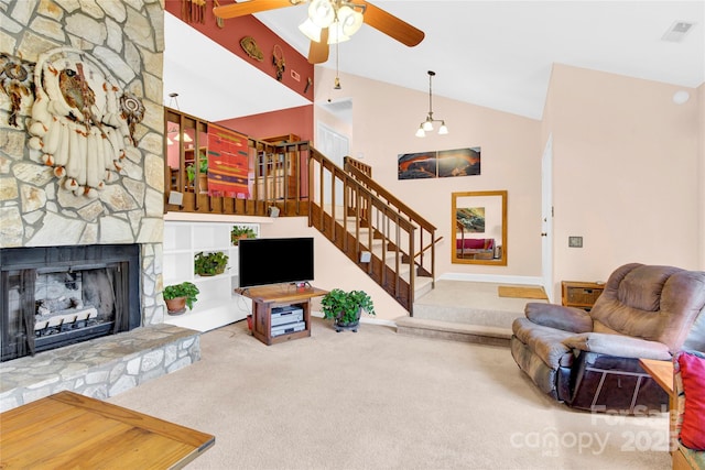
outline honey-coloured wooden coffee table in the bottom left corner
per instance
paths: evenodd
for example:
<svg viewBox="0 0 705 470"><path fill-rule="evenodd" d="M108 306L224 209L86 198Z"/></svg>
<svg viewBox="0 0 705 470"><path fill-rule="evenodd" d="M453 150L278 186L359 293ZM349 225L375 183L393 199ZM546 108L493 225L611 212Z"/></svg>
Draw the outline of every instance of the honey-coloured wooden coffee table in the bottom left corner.
<svg viewBox="0 0 705 470"><path fill-rule="evenodd" d="M74 392L0 414L0 469L178 469L215 437Z"/></svg>

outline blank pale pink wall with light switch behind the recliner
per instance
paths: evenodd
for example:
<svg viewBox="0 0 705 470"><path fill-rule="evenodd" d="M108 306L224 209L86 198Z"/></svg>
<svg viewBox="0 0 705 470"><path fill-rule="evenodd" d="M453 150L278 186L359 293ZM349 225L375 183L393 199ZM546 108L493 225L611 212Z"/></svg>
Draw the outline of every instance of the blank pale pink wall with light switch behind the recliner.
<svg viewBox="0 0 705 470"><path fill-rule="evenodd" d="M703 267L702 111L697 99L674 105L679 89L554 66L544 134L553 134L556 287L606 280L628 262ZM583 236L584 248L568 248L568 236Z"/></svg>

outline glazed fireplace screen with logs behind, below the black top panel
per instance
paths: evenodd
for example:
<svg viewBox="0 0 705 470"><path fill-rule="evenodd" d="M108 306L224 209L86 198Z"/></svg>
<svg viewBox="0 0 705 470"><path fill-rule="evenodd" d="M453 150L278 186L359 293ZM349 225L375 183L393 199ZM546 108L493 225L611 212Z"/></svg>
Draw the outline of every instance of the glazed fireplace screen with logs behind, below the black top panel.
<svg viewBox="0 0 705 470"><path fill-rule="evenodd" d="M88 261L3 266L2 361L139 326L139 302L131 305L130 260ZM130 315L134 308L137 318Z"/></svg>

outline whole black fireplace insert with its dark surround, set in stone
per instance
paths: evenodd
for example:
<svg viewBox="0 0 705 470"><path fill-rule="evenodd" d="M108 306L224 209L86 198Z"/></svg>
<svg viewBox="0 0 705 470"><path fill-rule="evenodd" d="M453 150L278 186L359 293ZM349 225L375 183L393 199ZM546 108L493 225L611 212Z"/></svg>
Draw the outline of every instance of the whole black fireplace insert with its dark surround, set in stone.
<svg viewBox="0 0 705 470"><path fill-rule="evenodd" d="M139 327L139 245L0 250L1 361Z"/></svg>

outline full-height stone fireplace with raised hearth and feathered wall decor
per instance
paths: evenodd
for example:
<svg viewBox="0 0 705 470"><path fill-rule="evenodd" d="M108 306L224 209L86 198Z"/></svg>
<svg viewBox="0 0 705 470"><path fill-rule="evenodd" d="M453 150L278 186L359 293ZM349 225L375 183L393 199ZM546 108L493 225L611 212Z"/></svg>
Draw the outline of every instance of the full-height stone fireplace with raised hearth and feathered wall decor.
<svg viewBox="0 0 705 470"><path fill-rule="evenodd" d="M11 98L0 91L0 411L61 390L112 396L197 361L197 332L164 324L161 295L163 2L20 1L0 12L0 62L18 81ZM32 79L37 64L61 70L58 91ZM91 106L44 100L67 97ZM120 121L126 112L134 119ZM40 124L53 122L69 146L51 155ZM94 129L108 127L124 138L110 139L115 152ZM72 130L86 141L75 146ZM84 164L70 170L76 156Z"/></svg>

